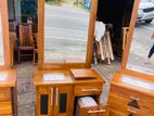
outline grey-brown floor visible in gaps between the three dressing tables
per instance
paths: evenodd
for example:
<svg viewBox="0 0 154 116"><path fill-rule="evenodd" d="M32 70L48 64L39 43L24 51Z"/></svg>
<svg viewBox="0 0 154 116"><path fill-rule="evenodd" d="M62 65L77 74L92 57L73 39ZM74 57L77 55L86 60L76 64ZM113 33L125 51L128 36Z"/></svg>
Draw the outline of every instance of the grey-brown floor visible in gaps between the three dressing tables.
<svg viewBox="0 0 154 116"><path fill-rule="evenodd" d="M31 62L16 64L17 69L17 106L18 116L35 116L35 87L34 87L34 73L37 67L33 66ZM120 68L119 61L114 61L112 65L101 63L92 66L106 83L103 87L102 102L106 103L110 89L110 79L112 75Z"/></svg>

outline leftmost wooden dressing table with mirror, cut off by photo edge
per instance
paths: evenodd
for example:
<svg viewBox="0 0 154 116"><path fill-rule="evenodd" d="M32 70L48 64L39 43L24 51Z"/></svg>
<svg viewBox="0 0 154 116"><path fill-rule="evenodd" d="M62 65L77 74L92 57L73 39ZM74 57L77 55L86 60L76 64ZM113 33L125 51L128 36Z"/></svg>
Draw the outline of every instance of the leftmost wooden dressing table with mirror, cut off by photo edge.
<svg viewBox="0 0 154 116"><path fill-rule="evenodd" d="M16 70L11 69L7 0L0 1L0 116L17 116Z"/></svg>

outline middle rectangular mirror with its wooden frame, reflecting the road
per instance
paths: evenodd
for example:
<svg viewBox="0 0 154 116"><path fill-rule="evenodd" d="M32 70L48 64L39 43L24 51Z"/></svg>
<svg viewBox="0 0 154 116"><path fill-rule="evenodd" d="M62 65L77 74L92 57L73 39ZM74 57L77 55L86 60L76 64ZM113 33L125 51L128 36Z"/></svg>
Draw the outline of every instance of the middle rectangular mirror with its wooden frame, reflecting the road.
<svg viewBox="0 0 154 116"><path fill-rule="evenodd" d="M88 8L84 0L39 1L41 30L38 35L39 40L42 39L39 47L43 48L39 61L42 65L86 67L87 63L90 64L97 3L98 0L92 0L91 8Z"/></svg>

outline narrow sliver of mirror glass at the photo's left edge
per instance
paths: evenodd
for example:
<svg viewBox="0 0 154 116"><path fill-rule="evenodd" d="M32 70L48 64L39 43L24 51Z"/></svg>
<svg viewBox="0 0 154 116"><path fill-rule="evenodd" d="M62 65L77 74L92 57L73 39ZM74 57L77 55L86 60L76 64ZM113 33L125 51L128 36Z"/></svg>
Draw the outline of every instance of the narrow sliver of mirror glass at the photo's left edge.
<svg viewBox="0 0 154 116"><path fill-rule="evenodd" d="M3 40L2 40L2 17L1 17L1 9L0 9L0 65L4 65L4 59L3 59Z"/></svg>

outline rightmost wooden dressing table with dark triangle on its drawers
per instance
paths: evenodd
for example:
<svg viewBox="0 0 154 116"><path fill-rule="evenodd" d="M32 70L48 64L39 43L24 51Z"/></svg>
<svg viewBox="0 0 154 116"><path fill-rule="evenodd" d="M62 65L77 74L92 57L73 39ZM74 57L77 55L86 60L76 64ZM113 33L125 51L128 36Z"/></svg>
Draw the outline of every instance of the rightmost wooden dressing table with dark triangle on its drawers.
<svg viewBox="0 0 154 116"><path fill-rule="evenodd" d="M138 7L139 0L134 0L121 70L117 72L111 80L108 96L110 116L154 116L153 64L151 67L147 67L142 57L137 59L138 55L134 55L141 51L141 49L138 50L136 48L138 46L134 42L136 31L134 38L131 40ZM146 37L149 36L146 35Z"/></svg>

